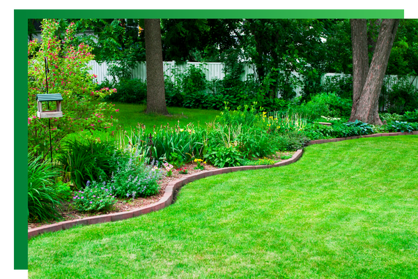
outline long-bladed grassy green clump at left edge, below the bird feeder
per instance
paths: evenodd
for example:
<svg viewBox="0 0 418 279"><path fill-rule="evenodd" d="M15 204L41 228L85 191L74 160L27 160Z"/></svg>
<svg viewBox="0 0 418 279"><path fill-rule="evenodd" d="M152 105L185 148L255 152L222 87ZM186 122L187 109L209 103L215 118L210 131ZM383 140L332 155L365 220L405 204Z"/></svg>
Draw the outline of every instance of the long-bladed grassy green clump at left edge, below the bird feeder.
<svg viewBox="0 0 418 279"><path fill-rule="evenodd" d="M65 189L55 183L60 172L46 162L40 163L41 157L28 153L28 220L60 220L58 209L65 200Z"/></svg>

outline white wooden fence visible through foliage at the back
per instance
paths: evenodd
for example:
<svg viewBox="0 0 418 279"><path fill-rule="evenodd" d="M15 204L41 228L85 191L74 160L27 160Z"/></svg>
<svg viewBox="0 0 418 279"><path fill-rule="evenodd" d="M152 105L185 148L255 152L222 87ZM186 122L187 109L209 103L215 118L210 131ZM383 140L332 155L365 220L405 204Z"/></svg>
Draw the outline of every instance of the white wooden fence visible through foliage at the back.
<svg viewBox="0 0 418 279"><path fill-rule="evenodd" d="M164 66L164 74L168 75L169 77L171 77L171 80L174 81L174 77L173 74L178 71L178 73L184 73L187 68L189 68L189 66L195 66L195 67L201 67L203 68L203 73L205 73L206 75L206 80L210 81L213 79L219 79L222 80L225 76L224 72L222 71L224 66L222 63L200 63L200 62L187 62L183 65L175 65L175 62L171 61L171 62L163 62L163 66ZM89 70L89 73L91 74L95 74L98 77L96 78L96 80L99 83L102 83L104 81L105 78L107 78L107 80L112 80L112 77L110 77L107 74L107 63L103 62L102 64L97 63L96 61L90 61L88 63L88 66L91 66L91 70ZM256 76L256 71L255 71L255 67L254 65L251 64L246 64L244 66L244 74L242 75L242 81L247 80L247 75L249 74L254 74ZM293 75L295 75L297 78L299 78L298 73L293 72ZM325 81L325 79L327 77L332 77L332 76L340 76L342 77L343 74L339 74L339 73L327 73L323 76L321 82L323 84L323 82ZM345 75L346 77L349 77L350 75ZM134 70L132 71L132 77L135 79L139 79L142 81L146 80L146 64L145 62L142 63L138 63L137 68L134 68ZM396 75L390 75L390 76L385 76L385 84L387 84L387 87L390 89L390 87L396 83ZM392 82L389 82L389 80L392 80ZM410 82L412 82L413 86L415 86L416 89L418 89L418 77L410 77ZM302 91L302 87L297 86L295 89L295 92L297 94L297 96L300 96L300 91ZM277 93L277 97L280 96L280 93Z"/></svg>

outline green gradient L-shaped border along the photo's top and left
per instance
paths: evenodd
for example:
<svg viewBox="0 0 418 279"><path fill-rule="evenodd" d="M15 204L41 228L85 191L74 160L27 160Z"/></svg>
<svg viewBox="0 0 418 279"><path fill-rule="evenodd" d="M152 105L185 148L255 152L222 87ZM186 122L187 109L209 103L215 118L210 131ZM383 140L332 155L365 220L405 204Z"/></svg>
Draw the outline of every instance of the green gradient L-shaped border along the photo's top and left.
<svg viewBox="0 0 418 279"><path fill-rule="evenodd" d="M196 16L198 15L198 16ZM12 8L12 271L26 272L27 19L29 18L404 18L404 7L17 7ZM25 145L26 143L26 145Z"/></svg>

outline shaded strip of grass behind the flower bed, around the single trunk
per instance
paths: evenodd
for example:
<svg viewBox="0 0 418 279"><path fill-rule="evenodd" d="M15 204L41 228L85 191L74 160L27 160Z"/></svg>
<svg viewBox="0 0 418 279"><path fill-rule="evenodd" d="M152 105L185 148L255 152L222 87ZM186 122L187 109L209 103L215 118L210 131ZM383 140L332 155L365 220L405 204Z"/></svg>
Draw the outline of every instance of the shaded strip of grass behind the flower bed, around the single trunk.
<svg viewBox="0 0 418 279"><path fill-rule="evenodd" d="M97 104L99 102L95 101L93 103ZM116 133L118 128L122 128L130 133L130 129L137 128L138 123L145 125L146 133L152 133L154 126L155 128L167 125L170 127L175 125L185 127L187 124L192 123L194 126L206 127L206 123L214 121L216 116L221 113L219 110L167 107L169 115L166 116L162 114L146 114L146 105L126 103L111 103L111 105L114 105L114 108L119 110L111 114L118 121L115 121L114 126L107 131L93 131L93 137L100 138L100 140L114 140L114 137L111 137L112 131ZM68 138L79 138L82 135L90 135L90 132L74 133L68 136Z"/></svg>

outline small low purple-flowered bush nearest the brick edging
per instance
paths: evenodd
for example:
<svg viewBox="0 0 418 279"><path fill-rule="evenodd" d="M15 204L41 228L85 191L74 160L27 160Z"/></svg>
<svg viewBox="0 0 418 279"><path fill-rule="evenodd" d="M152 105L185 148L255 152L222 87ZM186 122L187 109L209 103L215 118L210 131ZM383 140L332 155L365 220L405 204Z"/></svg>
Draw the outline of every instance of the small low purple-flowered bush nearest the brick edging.
<svg viewBox="0 0 418 279"><path fill-rule="evenodd" d="M106 181L101 183L87 181L84 190L79 190L74 193L72 197L73 204L78 211L100 211L102 209L109 209L115 204L116 199L112 195L109 187L106 186Z"/></svg>

